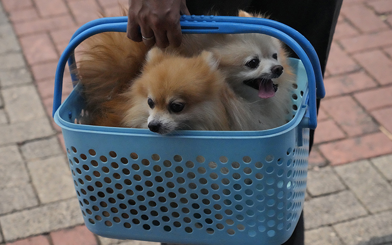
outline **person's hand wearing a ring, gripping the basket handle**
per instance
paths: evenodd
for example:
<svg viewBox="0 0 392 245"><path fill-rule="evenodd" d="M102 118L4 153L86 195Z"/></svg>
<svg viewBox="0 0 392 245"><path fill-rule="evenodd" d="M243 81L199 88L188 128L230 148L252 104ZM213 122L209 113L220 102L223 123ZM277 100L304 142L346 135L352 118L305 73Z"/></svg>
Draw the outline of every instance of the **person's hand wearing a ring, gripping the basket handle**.
<svg viewBox="0 0 392 245"><path fill-rule="evenodd" d="M185 0L129 0L128 7L128 38L147 47L180 46L180 16L190 15Z"/></svg>

